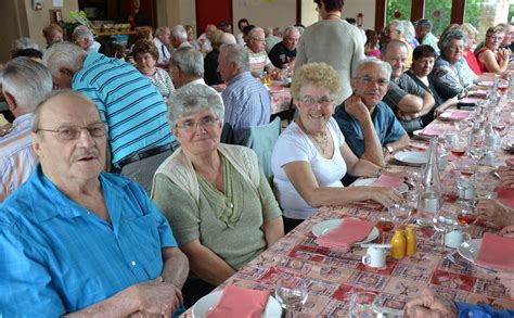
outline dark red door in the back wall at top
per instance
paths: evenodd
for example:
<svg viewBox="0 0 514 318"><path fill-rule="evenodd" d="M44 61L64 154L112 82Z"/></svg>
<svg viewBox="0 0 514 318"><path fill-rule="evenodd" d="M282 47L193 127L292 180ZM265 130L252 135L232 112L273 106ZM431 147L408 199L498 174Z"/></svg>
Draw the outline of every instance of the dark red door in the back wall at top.
<svg viewBox="0 0 514 318"><path fill-rule="evenodd" d="M196 31L200 36L207 24L218 26L220 22L232 24L232 0L196 0ZM232 31L234 26L232 26Z"/></svg>

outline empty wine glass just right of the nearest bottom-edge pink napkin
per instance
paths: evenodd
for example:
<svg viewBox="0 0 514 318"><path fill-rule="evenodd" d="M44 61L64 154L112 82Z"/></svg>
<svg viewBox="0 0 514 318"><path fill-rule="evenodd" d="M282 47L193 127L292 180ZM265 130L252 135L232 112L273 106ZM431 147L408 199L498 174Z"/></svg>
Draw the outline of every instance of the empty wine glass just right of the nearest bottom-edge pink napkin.
<svg viewBox="0 0 514 318"><path fill-rule="evenodd" d="M285 309L285 317L293 318L294 311L307 302L307 287L300 278L286 276L278 281L275 296Z"/></svg>

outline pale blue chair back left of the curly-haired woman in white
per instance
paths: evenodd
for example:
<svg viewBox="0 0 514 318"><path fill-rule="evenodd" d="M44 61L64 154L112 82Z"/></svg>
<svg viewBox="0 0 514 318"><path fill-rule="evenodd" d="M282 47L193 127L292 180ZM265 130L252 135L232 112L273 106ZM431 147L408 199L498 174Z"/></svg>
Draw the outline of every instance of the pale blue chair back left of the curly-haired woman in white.
<svg viewBox="0 0 514 318"><path fill-rule="evenodd" d="M282 130L280 120L280 117L275 117L270 124L249 127L243 140L243 145L252 149L257 154L266 178L272 176L271 153Z"/></svg>

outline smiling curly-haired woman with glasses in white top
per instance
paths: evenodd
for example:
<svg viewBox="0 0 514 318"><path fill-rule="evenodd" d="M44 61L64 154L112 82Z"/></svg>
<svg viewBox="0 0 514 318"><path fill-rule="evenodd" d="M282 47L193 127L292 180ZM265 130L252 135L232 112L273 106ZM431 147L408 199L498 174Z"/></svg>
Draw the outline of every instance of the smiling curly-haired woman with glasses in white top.
<svg viewBox="0 0 514 318"><path fill-rule="evenodd" d="M322 205L373 200L390 206L401 201L393 188L343 187L340 179L346 173L378 177L382 168L358 158L346 144L332 117L339 90L337 73L325 63L306 64L293 77L291 93L298 115L279 137L271 156L286 231Z"/></svg>

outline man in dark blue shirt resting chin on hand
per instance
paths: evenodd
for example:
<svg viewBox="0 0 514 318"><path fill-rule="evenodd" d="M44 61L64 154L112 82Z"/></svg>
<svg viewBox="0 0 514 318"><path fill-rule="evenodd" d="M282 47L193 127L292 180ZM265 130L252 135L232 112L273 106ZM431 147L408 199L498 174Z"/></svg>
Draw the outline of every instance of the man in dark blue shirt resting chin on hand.
<svg viewBox="0 0 514 318"><path fill-rule="evenodd" d="M354 94L335 110L346 142L359 157L385 166L384 155L406 148L409 136L382 101L389 89L391 68L375 58L361 60L351 79Z"/></svg>

